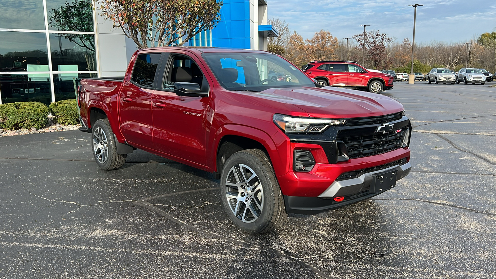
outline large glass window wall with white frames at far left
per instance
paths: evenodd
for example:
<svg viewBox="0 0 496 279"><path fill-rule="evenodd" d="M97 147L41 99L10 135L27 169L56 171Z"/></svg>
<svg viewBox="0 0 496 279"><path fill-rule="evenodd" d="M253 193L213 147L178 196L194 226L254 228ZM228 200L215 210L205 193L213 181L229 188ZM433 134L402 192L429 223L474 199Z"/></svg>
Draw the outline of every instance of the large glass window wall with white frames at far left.
<svg viewBox="0 0 496 279"><path fill-rule="evenodd" d="M98 76L92 2L0 0L0 104L73 99Z"/></svg>

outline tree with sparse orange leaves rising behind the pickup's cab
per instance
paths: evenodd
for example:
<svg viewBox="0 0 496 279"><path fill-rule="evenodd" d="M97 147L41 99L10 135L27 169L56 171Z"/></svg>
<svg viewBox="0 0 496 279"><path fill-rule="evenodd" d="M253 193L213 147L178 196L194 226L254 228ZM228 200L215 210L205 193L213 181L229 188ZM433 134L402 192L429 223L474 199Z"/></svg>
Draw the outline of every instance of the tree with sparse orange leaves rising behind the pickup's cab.
<svg viewBox="0 0 496 279"><path fill-rule="evenodd" d="M217 0L99 0L102 14L138 48L178 45L220 20Z"/></svg>

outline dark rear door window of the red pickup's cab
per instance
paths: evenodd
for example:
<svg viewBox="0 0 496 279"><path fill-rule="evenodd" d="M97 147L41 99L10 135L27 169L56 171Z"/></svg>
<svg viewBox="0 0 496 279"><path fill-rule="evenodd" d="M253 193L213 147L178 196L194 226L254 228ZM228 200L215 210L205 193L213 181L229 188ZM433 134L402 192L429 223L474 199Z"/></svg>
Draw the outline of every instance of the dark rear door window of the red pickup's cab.
<svg viewBox="0 0 496 279"><path fill-rule="evenodd" d="M144 87L153 87L160 56L159 53L138 55L131 80Z"/></svg>

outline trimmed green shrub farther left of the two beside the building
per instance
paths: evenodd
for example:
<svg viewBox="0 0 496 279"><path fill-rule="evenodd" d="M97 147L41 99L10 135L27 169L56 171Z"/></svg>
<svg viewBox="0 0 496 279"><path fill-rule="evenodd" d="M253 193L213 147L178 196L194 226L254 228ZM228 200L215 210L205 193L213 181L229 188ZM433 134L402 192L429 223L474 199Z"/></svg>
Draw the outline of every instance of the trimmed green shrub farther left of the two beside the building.
<svg viewBox="0 0 496 279"><path fill-rule="evenodd" d="M41 129L47 125L50 110L38 102L18 102L0 105L0 127L7 130Z"/></svg>

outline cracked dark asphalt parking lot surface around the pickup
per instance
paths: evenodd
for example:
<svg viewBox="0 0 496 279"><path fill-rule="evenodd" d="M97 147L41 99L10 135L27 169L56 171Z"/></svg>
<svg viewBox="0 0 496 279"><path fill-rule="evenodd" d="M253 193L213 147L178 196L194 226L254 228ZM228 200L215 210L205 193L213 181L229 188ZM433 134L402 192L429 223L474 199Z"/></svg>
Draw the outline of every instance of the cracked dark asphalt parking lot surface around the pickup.
<svg viewBox="0 0 496 279"><path fill-rule="evenodd" d="M496 88L395 83L413 170L371 200L250 235L210 173L79 131L0 138L0 278L496 278Z"/></svg>

